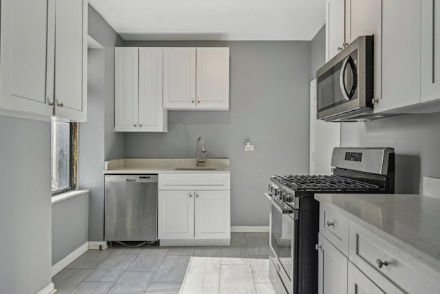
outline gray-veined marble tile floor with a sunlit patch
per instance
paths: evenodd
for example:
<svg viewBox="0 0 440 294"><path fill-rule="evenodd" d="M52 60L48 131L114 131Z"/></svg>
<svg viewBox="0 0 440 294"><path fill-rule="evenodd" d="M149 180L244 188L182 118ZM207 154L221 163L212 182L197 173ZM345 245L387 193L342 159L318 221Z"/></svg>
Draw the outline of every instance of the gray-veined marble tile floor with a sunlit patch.
<svg viewBox="0 0 440 294"><path fill-rule="evenodd" d="M231 246L89 250L52 278L56 293L274 294L268 233Z"/></svg>

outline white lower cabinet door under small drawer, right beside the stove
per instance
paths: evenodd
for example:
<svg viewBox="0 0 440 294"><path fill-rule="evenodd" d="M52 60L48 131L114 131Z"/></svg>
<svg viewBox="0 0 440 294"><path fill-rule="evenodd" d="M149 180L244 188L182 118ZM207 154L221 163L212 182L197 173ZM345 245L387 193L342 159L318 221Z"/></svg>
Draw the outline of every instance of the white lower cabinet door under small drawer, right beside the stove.
<svg viewBox="0 0 440 294"><path fill-rule="evenodd" d="M347 257L321 233L318 240L318 293L347 294Z"/></svg>

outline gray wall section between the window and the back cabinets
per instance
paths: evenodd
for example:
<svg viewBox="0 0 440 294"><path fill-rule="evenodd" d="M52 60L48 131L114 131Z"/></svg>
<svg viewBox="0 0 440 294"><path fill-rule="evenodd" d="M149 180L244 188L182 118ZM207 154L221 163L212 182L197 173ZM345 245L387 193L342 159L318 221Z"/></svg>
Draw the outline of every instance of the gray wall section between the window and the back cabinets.
<svg viewBox="0 0 440 294"><path fill-rule="evenodd" d="M89 35L104 47L89 50L88 117L80 123L78 180L90 190L89 241L104 240L104 160L124 157L124 133L113 132L115 46L122 39L89 6Z"/></svg>

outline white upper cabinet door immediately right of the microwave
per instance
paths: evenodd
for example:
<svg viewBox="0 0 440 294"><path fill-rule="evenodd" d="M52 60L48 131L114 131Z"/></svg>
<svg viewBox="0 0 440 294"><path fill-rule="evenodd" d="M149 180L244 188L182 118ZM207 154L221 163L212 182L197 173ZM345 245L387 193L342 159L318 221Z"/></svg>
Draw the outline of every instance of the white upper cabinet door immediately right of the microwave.
<svg viewBox="0 0 440 294"><path fill-rule="evenodd" d="M420 103L420 0L382 3L382 96L375 112Z"/></svg>

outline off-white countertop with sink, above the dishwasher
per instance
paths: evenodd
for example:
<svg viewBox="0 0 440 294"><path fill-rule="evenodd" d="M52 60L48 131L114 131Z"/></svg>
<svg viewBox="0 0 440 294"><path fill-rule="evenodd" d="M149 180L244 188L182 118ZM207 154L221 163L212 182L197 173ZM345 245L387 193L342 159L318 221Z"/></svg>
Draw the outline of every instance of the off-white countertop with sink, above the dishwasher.
<svg viewBox="0 0 440 294"><path fill-rule="evenodd" d="M228 158L208 158L201 165L214 170L175 170L194 166L195 158L124 158L106 161L104 174L230 174Z"/></svg>

